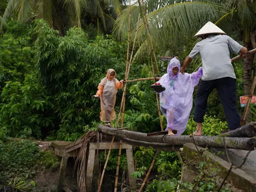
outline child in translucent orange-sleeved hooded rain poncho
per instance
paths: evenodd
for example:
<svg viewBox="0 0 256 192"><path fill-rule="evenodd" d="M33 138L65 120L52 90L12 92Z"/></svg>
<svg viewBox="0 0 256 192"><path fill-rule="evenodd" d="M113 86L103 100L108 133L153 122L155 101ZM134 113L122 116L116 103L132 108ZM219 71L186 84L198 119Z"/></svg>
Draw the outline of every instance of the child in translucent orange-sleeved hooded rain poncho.
<svg viewBox="0 0 256 192"><path fill-rule="evenodd" d="M110 122L116 118L115 103L116 93L118 89L123 88L123 80L118 81L116 78L116 71L108 69L105 78L101 79L98 85L98 91L94 98L100 98L100 120L106 122L107 126L111 126Z"/></svg>

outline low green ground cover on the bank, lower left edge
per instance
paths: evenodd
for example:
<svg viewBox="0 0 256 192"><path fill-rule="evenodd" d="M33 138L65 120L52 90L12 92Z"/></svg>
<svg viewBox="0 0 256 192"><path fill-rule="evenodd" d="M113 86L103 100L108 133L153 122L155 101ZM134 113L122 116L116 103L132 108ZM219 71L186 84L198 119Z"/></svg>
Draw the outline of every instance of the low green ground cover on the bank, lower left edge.
<svg viewBox="0 0 256 192"><path fill-rule="evenodd" d="M43 152L29 140L14 140L0 144L0 181L7 183L15 177L32 177L38 166L55 167L58 158Z"/></svg>

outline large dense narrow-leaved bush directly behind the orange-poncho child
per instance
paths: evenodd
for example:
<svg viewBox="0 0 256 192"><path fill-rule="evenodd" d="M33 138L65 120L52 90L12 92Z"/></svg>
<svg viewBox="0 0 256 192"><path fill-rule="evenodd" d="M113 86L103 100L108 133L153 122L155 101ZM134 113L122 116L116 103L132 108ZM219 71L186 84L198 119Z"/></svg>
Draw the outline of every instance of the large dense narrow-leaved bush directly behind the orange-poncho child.
<svg viewBox="0 0 256 192"><path fill-rule="evenodd" d="M35 46L39 78L52 96L58 115L57 139L76 140L99 119L99 102L92 95L106 71L114 68L117 78L123 71L125 63L120 53L124 52L118 52L122 45L102 37L90 42L79 28L71 28L60 37L42 20L35 22L34 33L38 37Z"/></svg>

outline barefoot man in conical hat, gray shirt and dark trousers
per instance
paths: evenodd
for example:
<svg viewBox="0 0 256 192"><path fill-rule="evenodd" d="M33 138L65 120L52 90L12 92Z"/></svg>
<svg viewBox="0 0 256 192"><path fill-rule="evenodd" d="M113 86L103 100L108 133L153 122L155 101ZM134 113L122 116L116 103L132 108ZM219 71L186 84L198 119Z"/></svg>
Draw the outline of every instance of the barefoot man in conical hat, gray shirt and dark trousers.
<svg viewBox="0 0 256 192"><path fill-rule="evenodd" d="M201 37L181 68L183 74L186 67L198 54L203 61L203 77L199 83L196 93L194 121L197 129L194 135L202 135L202 123L207 109L207 99L214 88L217 89L225 116L228 122L228 129L235 130L240 127L240 115L236 109L236 75L231 65L230 52L246 57L247 49L234 39L227 36L224 31L207 22L195 37Z"/></svg>

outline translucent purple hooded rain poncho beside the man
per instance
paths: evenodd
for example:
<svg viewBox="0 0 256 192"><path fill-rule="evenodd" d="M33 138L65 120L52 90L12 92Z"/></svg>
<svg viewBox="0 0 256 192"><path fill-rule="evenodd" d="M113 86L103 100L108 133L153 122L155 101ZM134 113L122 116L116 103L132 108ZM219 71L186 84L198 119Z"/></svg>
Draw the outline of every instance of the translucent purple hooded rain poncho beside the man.
<svg viewBox="0 0 256 192"><path fill-rule="evenodd" d="M173 75L172 68L178 67L179 72ZM180 61L173 58L167 67L167 74L164 74L157 82L165 87L160 94L161 111L167 119L167 127L177 130L176 135L181 135L188 124L188 118L193 105L194 87L198 84L203 75L203 69L192 74L180 73Z"/></svg>

